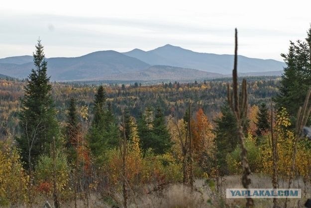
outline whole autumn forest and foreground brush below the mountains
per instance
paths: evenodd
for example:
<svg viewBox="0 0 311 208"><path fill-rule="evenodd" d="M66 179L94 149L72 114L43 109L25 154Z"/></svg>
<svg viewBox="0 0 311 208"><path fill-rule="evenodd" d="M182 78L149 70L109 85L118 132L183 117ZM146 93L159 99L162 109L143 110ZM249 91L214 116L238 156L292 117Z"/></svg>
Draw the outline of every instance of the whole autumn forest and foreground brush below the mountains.
<svg viewBox="0 0 311 208"><path fill-rule="evenodd" d="M282 54L282 77L239 78L235 55L232 78L61 83L39 40L28 78L0 79L0 207L304 206L311 28ZM302 198L225 198L242 187Z"/></svg>

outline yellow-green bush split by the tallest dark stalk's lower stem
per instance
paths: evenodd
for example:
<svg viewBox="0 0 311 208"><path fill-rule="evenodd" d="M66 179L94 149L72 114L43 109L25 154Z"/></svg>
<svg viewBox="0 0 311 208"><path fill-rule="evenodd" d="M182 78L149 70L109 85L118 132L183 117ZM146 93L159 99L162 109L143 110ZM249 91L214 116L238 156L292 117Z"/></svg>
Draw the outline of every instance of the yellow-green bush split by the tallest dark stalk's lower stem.
<svg viewBox="0 0 311 208"><path fill-rule="evenodd" d="M259 147L256 145L256 141L248 135L245 140L245 147L247 150L247 160L251 171L254 173L259 172L262 168L261 154L258 151ZM226 163L230 174L241 174L241 148L239 145L235 149L228 153L226 156Z"/></svg>

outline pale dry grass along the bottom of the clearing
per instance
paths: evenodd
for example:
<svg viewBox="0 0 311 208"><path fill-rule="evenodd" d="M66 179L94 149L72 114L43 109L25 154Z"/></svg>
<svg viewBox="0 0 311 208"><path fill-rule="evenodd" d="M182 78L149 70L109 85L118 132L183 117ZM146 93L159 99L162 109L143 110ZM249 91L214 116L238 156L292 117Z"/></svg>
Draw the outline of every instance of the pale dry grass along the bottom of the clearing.
<svg viewBox="0 0 311 208"><path fill-rule="evenodd" d="M272 188L271 178L264 175L251 176L252 184L250 188ZM205 180L196 180L194 186L196 190L192 193L191 189L183 184L170 184L163 190L152 192L151 194L141 194L133 197L129 196L128 208L243 208L245 207L244 199L226 199L225 189L242 188L241 176L226 176L222 180L221 192L217 194L212 191ZM287 188L286 181L279 181L279 188ZM288 207L304 207L304 203L311 198L311 186L304 184L302 180L295 180L293 188L302 189L302 199L289 199ZM135 199L134 199L135 198ZM46 199L38 197L33 207L44 206ZM122 193L115 193L113 201L122 205ZM283 207L285 199L279 199L280 207ZM49 199L52 204L52 199ZM272 208L272 199L255 199L255 208ZM89 208L111 208L110 203L104 200L96 193L89 197ZM87 208L86 200L78 200L79 208ZM20 206L20 208L25 206ZM61 204L62 208L74 208L74 202ZM121 206L120 206L121 208Z"/></svg>

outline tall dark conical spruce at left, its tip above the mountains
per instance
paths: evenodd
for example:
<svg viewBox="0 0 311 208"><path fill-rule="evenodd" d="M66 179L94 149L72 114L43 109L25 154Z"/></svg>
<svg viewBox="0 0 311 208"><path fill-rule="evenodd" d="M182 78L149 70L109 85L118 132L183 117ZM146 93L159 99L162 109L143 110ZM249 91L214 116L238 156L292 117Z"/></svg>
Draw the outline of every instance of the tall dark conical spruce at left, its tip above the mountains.
<svg viewBox="0 0 311 208"><path fill-rule="evenodd" d="M58 138L56 110L51 98L52 86L47 76L47 62L43 45L38 40L33 53L35 69L28 76L25 96L19 113L20 137L17 138L21 155L31 170L41 154L48 153L53 136Z"/></svg>

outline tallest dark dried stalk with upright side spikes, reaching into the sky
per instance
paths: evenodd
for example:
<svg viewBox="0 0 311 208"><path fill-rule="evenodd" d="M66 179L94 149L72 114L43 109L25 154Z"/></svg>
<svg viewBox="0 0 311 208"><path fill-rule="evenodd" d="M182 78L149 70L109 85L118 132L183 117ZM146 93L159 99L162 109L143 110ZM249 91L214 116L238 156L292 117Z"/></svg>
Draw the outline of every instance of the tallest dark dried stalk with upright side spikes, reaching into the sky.
<svg viewBox="0 0 311 208"><path fill-rule="evenodd" d="M242 92L241 92L241 100L239 100L238 96L238 82L237 82L237 29L235 29L235 50L234 50L234 67L232 71L232 80L233 80L233 95L230 92L229 85L227 86L227 99L228 103L235 115L237 121L238 128L238 137L239 143L241 147L241 163L243 169L242 175L242 185L245 189L249 189L249 185L251 184L251 179L249 175L251 174L251 170L249 168L248 160L247 160L247 150L244 144L245 136L243 133L243 120L247 116L247 89L246 89L246 80L242 81ZM249 208L254 205L254 201L251 198L246 199L246 207Z"/></svg>

